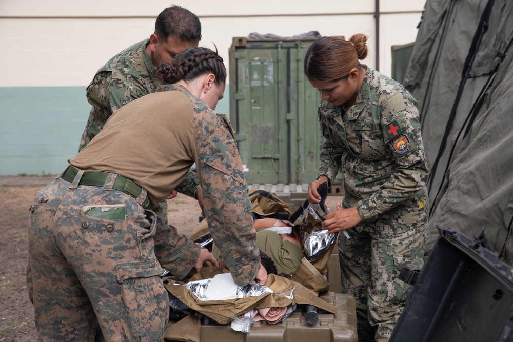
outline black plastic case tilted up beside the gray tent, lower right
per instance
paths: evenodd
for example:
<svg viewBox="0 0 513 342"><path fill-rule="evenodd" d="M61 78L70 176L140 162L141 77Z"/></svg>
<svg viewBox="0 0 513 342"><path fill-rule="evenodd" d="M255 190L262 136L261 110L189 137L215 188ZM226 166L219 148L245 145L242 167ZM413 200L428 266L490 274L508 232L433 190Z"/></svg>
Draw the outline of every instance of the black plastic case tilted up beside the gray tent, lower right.
<svg viewBox="0 0 513 342"><path fill-rule="evenodd" d="M415 283L390 342L513 341L513 268L469 238L438 227L440 238Z"/></svg>

